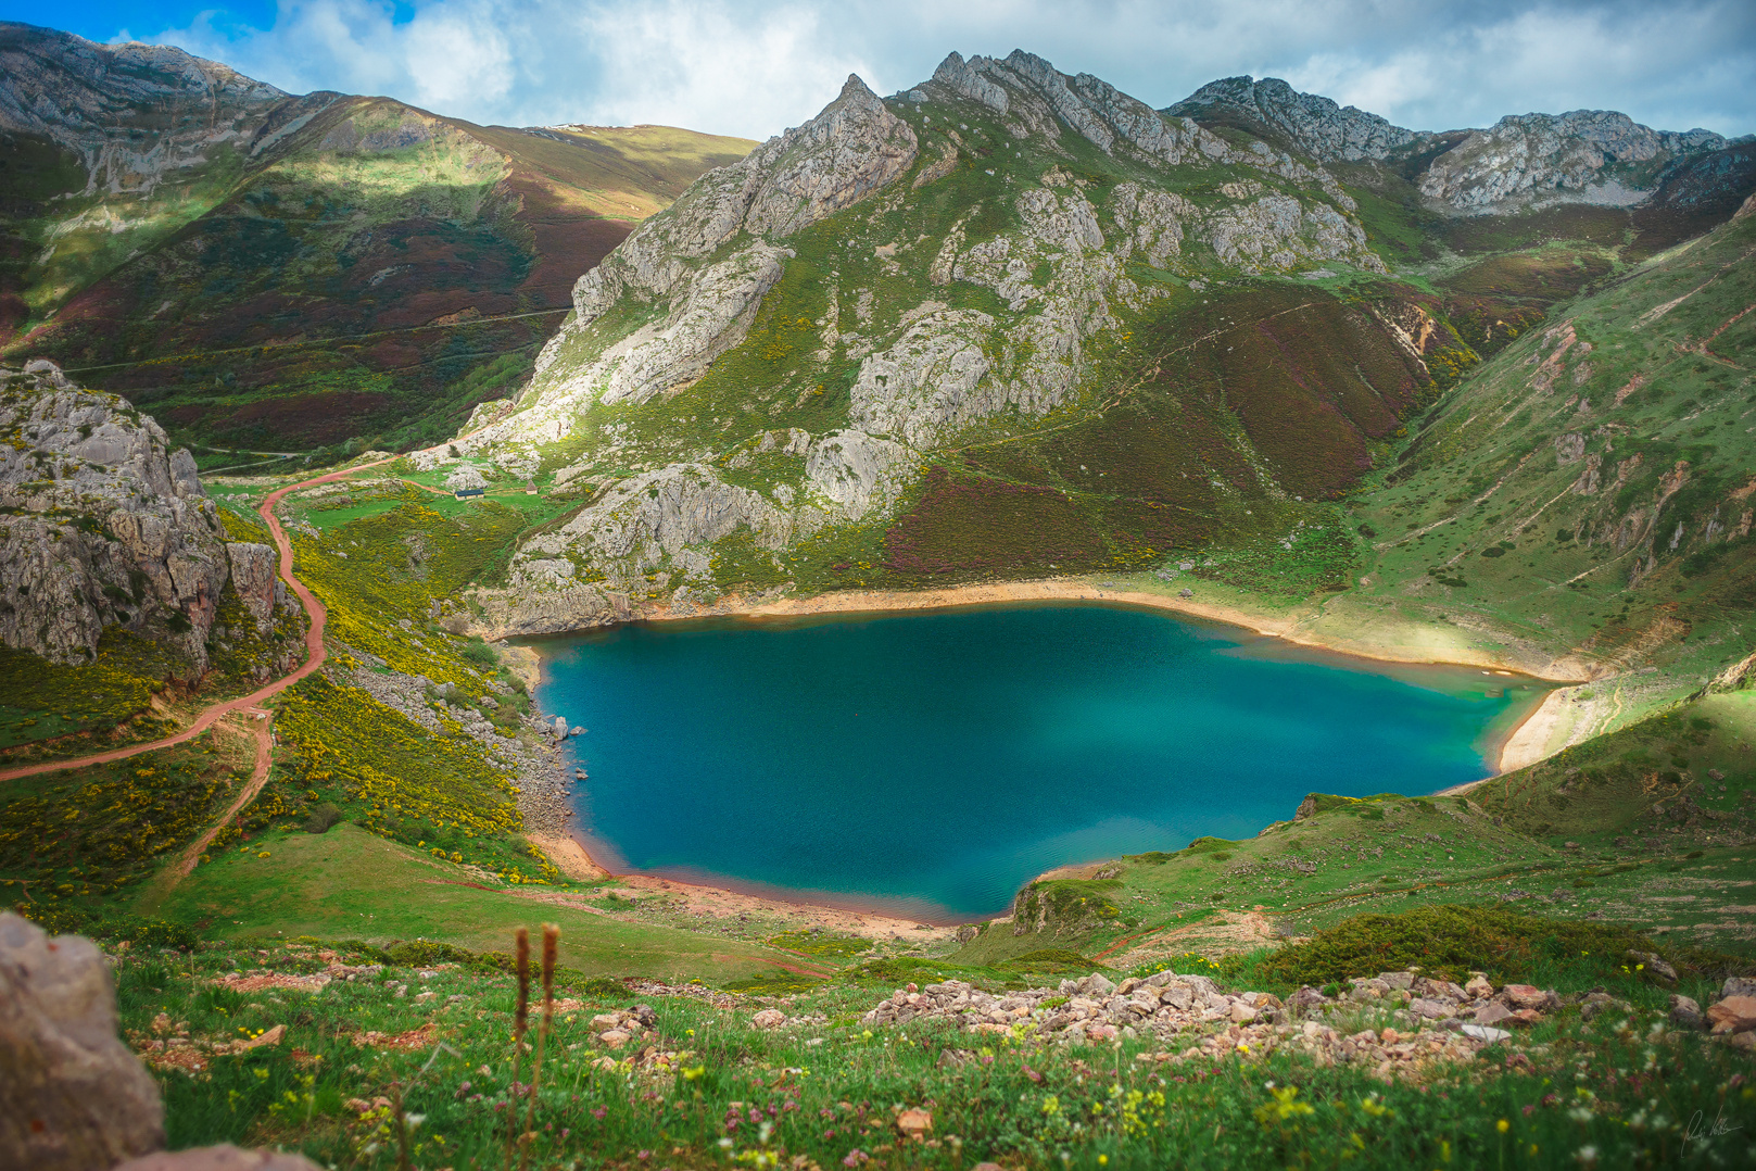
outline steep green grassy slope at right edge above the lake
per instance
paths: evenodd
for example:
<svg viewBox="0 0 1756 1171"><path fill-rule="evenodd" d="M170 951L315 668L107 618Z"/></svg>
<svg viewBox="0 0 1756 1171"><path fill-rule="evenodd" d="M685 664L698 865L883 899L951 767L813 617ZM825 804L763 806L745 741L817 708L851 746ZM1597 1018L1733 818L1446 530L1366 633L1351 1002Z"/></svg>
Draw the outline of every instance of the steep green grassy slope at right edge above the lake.
<svg viewBox="0 0 1756 1171"><path fill-rule="evenodd" d="M1370 616L1487 627L1575 678L1656 667L1623 723L1756 644L1756 216L1514 341L1352 500ZM1603 727L1603 723L1600 723Z"/></svg>

